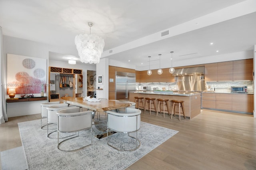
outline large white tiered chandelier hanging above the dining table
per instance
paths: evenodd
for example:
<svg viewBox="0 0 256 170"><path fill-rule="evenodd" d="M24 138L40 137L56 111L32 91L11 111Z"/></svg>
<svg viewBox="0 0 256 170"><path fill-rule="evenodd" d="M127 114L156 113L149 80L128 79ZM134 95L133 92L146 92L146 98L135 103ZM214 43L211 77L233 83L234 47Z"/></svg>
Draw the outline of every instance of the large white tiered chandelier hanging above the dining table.
<svg viewBox="0 0 256 170"><path fill-rule="evenodd" d="M90 26L90 35L79 34L75 38L76 49L82 63L99 63L101 53L105 46L103 38L91 34L92 22L88 22Z"/></svg>

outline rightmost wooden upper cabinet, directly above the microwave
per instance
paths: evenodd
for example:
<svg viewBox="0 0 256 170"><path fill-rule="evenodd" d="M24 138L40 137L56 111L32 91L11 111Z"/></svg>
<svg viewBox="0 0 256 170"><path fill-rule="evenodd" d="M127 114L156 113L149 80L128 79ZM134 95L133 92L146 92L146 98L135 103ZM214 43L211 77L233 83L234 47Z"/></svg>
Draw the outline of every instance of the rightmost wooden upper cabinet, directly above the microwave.
<svg viewBox="0 0 256 170"><path fill-rule="evenodd" d="M253 59L233 61L233 81L253 80Z"/></svg>

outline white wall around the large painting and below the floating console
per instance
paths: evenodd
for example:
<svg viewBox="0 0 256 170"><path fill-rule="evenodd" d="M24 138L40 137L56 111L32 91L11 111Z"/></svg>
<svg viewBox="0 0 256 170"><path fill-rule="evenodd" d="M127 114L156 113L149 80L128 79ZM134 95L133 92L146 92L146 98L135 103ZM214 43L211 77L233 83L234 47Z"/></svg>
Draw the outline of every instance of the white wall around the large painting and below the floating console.
<svg viewBox="0 0 256 170"><path fill-rule="evenodd" d="M20 38L14 38L10 36L3 36L3 46L4 46L4 56L7 57L7 53L24 55L30 57L38 57L47 59L47 69L49 66L49 51L77 55L76 47L56 47L44 43L33 42L29 40L24 40ZM7 60L6 60L7 61ZM2 63L7 65L7 63ZM60 66L60 65L58 65ZM49 74L47 73L47 80ZM47 89L48 90L48 89ZM46 93L48 94L48 93ZM8 103L7 105L7 116L23 116L41 113L40 103L46 101L36 101L36 102L20 102L20 103Z"/></svg>

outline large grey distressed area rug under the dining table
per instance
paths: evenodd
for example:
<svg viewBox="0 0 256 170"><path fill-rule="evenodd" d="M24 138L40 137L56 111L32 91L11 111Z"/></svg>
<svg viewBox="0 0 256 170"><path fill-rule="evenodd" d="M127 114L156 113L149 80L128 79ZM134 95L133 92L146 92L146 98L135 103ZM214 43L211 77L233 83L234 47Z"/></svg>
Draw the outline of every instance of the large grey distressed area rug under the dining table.
<svg viewBox="0 0 256 170"><path fill-rule="evenodd" d="M63 152L57 149L57 140L47 138L46 130L40 129L40 120L18 123L18 126L29 170L125 169L178 132L141 122L141 128L138 131L138 139L141 145L135 151L118 151L107 144L106 138L99 140L93 137L92 145L74 152ZM93 134L96 135L99 132L93 126ZM88 130L84 133L86 136ZM78 142L78 140L76 139L73 142ZM86 142L88 140L80 141L82 144ZM75 145L70 147L76 147Z"/></svg>

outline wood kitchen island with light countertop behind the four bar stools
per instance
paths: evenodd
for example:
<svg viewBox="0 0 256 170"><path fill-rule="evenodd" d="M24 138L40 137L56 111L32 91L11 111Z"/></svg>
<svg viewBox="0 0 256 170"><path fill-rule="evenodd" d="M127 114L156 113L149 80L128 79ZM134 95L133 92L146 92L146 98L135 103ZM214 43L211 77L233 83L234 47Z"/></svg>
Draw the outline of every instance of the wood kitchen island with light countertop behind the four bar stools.
<svg viewBox="0 0 256 170"><path fill-rule="evenodd" d="M169 91L134 91L130 92L130 101L135 102L134 97L144 97L144 105L146 104L146 97L154 98L156 103L156 109L158 107L157 99L169 99L168 105L170 108L170 114L172 114L172 100L184 101L184 110L186 117L192 119L196 115L200 114L201 111L201 93L178 93ZM136 108L138 105L136 104ZM148 110L148 107L146 108ZM177 109L176 109L177 111ZM165 113L168 113L167 111Z"/></svg>

